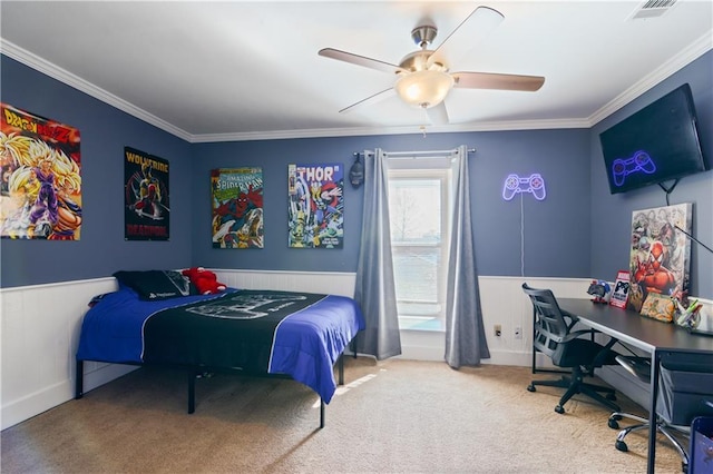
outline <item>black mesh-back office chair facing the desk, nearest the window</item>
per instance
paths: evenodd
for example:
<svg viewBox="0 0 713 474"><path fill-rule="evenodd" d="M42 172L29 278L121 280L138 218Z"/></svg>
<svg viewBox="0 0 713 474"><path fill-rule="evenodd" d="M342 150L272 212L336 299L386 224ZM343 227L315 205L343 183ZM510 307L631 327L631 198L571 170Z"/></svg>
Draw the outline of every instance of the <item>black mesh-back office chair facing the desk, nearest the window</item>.
<svg viewBox="0 0 713 474"><path fill-rule="evenodd" d="M533 381L527 386L529 392L536 392L536 386L566 388L565 394L555 406L555 412L565 413L564 405L576 394L584 394L599 402L609 409L619 411L613 388L584 382L586 376L593 376L594 369L603 365L616 364L616 353L611 347L615 339L607 346L603 346L590 338L594 329L573 330L577 318L559 308L555 295L549 289L536 289L522 284L522 290L533 302L535 312L535 339L534 347L549 356L557 367L569 368L572 374L563 375L558 381ZM569 323L566 320L569 319ZM605 394L605 395L602 395Z"/></svg>

